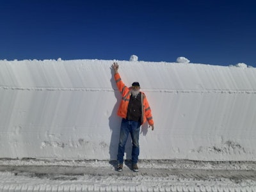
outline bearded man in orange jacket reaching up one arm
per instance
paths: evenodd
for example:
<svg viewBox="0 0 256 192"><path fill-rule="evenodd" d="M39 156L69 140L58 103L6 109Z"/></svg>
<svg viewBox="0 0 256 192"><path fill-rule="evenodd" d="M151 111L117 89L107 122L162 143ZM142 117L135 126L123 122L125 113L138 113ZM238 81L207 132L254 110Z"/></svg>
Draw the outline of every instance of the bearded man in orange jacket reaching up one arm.
<svg viewBox="0 0 256 192"><path fill-rule="evenodd" d="M120 139L118 144L117 154L117 171L122 172L124 164L124 150L125 144L129 134L132 138L132 170L138 172L138 156L140 154L139 135L140 127L146 121L149 127L154 130L154 121L151 114L151 109L148 104L145 93L140 92L140 83L134 82L128 88L123 83L120 74L118 73L118 64L113 63L113 70L115 72L116 86L122 94L122 100L117 112L118 116L122 117L122 124L120 128Z"/></svg>

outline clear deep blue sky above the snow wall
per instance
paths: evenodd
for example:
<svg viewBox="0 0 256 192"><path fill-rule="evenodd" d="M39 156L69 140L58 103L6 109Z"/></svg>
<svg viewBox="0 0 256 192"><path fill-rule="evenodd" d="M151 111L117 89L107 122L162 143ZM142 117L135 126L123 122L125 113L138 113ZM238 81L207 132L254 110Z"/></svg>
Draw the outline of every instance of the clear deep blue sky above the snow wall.
<svg viewBox="0 0 256 192"><path fill-rule="evenodd" d="M256 1L3 0L0 60L176 61L256 67Z"/></svg>

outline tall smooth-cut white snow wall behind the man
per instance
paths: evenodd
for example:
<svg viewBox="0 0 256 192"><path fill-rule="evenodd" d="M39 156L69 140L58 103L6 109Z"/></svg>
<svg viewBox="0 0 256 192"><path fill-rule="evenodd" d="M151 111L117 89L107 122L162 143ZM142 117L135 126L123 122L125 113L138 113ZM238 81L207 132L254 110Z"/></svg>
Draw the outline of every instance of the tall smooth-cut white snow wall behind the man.
<svg viewBox="0 0 256 192"><path fill-rule="evenodd" d="M116 159L121 95L111 60L0 61L0 158ZM155 130L140 159L256 160L256 69L118 61ZM126 159L131 158L131 138Z"/></svg>

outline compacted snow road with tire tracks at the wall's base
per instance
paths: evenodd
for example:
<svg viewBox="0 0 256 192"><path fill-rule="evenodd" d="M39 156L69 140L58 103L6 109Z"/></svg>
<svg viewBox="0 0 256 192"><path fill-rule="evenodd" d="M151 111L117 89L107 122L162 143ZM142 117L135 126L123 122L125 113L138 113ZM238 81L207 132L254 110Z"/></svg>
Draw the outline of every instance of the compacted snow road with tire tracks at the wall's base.
<svg viewBox="0 0 256 192"><path fill-rule="evenodd" d="M0 161L0 191L256 191L253 162Z"/></svg>

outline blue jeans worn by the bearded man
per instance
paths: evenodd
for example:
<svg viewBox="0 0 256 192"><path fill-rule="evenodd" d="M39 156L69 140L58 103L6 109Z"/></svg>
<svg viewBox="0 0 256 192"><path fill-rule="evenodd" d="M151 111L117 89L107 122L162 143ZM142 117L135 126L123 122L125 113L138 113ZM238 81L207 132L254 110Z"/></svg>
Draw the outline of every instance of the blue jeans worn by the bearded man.
<svg viewBox="0 0 256 192"><path fill-rule="evenodd" d="M120 139L118 144L118 163L124 163L125 144L129 133L132 138L132 164L138 163L138 156L140 154L139 136L140 136L140 122L126 120L123 118L120 130Z"/></svg>

